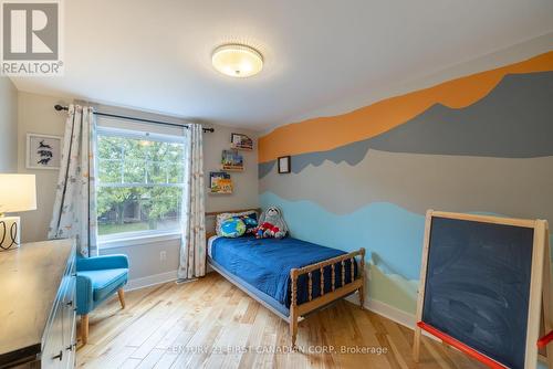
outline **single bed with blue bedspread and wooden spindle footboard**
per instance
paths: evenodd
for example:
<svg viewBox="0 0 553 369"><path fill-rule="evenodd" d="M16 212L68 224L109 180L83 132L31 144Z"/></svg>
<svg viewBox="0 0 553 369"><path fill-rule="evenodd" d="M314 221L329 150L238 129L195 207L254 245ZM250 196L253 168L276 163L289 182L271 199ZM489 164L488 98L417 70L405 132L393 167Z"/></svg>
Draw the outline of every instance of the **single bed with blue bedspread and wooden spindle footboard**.
<svg viewBox="0 0 553 369"><path fill-rule="evenodd" d="M292 346L306 314L357 291L363 308L364 249L346 253L293 238L208 236L208 264L286 320Z"/></svg>

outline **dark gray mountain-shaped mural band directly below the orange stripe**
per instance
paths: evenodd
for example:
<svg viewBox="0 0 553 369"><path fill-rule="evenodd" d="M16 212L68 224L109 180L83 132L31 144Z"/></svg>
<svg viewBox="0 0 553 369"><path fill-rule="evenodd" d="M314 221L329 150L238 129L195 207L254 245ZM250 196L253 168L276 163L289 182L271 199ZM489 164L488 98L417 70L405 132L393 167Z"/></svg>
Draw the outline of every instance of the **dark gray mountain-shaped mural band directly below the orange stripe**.
<svg viewBox="0 0 553 369"><path fill-rule="evenodd" d="M435 105L379 136L328 151L292 158L298 173L325 160L358 164L369 148L393 152L439 154L500 158L553 155L553 72L505 76L479 102L452 109ZM369 123L367 123L369 124ZM260 178L272 168L260 165Z"/></svg>

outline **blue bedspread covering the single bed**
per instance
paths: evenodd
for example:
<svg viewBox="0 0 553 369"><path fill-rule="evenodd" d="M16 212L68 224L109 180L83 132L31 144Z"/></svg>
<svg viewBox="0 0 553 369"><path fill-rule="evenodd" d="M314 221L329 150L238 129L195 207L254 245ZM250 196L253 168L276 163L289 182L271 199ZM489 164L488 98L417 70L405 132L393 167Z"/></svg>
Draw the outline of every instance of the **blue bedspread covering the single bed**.
<svg viewBox="0 0 553 369"><path fill-rule="evenodd" d="M317 263L345 252L324 247L314 243L292 238L261 239L252 236L226 239L219 238L211 246L211 259L220 266L257 289L273 297L282 305L290 307L290 270ZM346 283L351 282L351 262L345 265ZM357 275L357 263L354 263ZM324 270L325 293L332 289L331 267ZM313 297L321 293L321 273L315 271L313 277ZM335 286L342 285L342 265L335 264ZM307 301L307 277L301 276L298 283L298 304Z"/></svg>

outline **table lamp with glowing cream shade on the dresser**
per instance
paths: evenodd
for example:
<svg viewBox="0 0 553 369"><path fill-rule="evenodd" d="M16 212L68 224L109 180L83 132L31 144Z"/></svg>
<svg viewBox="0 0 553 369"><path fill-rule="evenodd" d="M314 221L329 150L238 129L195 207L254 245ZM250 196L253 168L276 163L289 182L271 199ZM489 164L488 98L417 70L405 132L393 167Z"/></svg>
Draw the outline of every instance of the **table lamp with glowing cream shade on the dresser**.
<svg viewBox="0 0 553 369"><path fill-rule="evenodd" d="M7 212L36 209L34 175L0 175L0 251L19 247L20 219Z"/></svg>

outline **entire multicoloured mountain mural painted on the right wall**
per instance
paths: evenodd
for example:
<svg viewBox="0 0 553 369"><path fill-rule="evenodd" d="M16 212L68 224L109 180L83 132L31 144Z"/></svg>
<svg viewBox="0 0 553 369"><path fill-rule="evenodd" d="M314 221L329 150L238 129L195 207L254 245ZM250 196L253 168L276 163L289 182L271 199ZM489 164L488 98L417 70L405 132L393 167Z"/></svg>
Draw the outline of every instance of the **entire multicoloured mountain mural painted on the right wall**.
<svg viewBox="0 0 553 369"><path fill-rule="evenodd" d="M365 246L369 297L414 314L427 209L553 223L553 52L280 127L259 158L261 205L293 236Z"/></svg>

